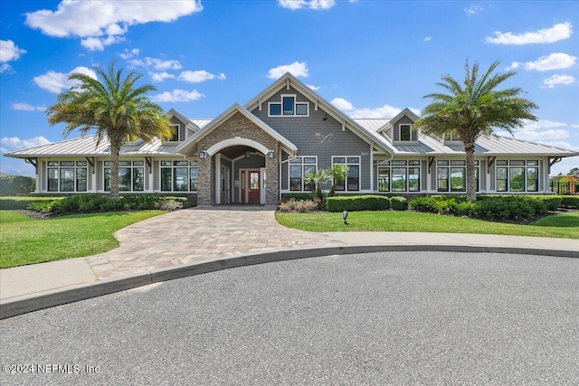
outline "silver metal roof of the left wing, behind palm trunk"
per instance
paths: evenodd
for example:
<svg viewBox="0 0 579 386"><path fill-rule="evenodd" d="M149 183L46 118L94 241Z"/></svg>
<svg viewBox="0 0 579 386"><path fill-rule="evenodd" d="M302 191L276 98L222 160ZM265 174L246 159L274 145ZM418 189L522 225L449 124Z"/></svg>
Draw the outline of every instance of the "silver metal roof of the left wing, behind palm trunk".
<svg viewBox="0 0 579 386"><path fill-rule="evenodd" d="M67 139L52 144L32 147L6 153L14 158L33 158L39 156L99 156L110 155L109 138L103 137L97 146L97 135ZM120 148L120 155L175 155L176 146L165 146L159 139L151 142L137 141Z"/></svg>

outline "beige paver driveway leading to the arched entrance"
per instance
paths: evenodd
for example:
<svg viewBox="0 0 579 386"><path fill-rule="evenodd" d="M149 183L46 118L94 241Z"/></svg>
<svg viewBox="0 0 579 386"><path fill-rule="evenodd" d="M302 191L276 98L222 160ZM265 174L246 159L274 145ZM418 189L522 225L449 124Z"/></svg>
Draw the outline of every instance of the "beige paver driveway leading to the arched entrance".
<svg viewBox="0 0 579 386"><path fill-rule="evenodd" d="M97 278L107 279L248 253L345 245L327 234L283 227L274 213L261 206L169 212L117 231L120 247L87 261Z"/></svg>

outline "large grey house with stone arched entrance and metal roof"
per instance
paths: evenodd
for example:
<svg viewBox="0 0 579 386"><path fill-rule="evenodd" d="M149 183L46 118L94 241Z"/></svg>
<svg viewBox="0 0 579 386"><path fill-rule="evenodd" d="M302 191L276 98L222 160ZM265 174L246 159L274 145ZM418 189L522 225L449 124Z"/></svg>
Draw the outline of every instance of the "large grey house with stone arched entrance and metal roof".
<svg viewBox="0 0 579 386"><path fill-rule="evenodd" d="M119 160L119 190L192 193L199 205L275 204L306 193L311 170L348 166L337 193L465 193L459 138L425 136L404 109L392 119L352 119L290 74L245 105L214 119L167 112L175 135L129 142ZM479 193L551 193L549 169L569 150L510 137L476 142ZM106 193L109 143L96 136L5 154L36 167L36 193Z"/></svg>

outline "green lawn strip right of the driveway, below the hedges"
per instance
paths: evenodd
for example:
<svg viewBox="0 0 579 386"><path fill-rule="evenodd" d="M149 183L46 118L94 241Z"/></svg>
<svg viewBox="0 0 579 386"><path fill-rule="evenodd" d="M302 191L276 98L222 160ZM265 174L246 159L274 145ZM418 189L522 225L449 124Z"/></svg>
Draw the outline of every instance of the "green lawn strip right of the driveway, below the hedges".
<svg viewBox="0 0 579 386"><path fill-rule="evenodd" d="M423 231L543 236L579 239L579 212L564 212L529 225L507 224L419 212L349 212L344 225L342 213L311 212L275 215L281 225L302 231Z"/></svg>

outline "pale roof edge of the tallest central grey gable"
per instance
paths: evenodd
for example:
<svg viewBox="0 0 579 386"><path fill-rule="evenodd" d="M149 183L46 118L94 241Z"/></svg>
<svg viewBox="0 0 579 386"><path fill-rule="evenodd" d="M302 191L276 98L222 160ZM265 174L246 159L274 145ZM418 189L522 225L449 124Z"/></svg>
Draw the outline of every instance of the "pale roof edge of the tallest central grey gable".
<svg viewBox="0 0 579 386"><path fill-rule="evenodd" d="M381 150L386 153L392 153L392 149L386 142L380 138L377 138L378 141L376 141L376 137L372 134L372 132L366 130L365 127L358 125L354 119L346 116L346 114L329 103L326 99L320 97L316 91L310 89L308 85L302 83L300 80L298 80L298 78L291 75L289 72L286 72L285 75L280 77L280 79L273 82L270 87L261 91L259 95L247 102L244 107L248 111L252 111L254 108L258 108L265 100L270 99L271 96L278 92L281 88L289 88L290 86L298 90L299 93L301 93L304 97L311 100L314 103L315 108L318 108L318 106L321 107L324 111L327 112L329 116L342 123L344 127L348 128L358 137L361 137L368 143L374 143L376 147L381 148Z"/></svg>

